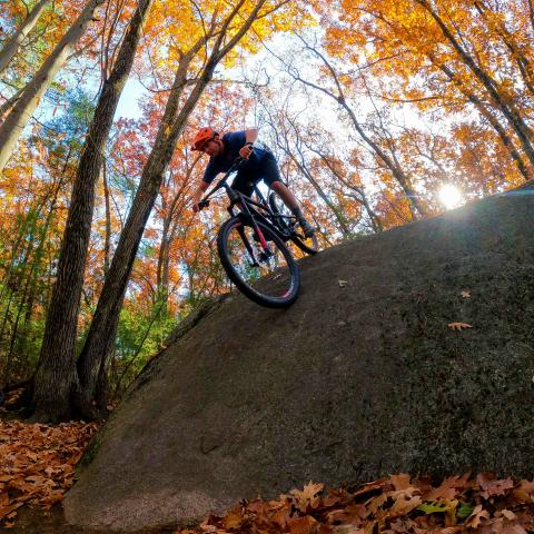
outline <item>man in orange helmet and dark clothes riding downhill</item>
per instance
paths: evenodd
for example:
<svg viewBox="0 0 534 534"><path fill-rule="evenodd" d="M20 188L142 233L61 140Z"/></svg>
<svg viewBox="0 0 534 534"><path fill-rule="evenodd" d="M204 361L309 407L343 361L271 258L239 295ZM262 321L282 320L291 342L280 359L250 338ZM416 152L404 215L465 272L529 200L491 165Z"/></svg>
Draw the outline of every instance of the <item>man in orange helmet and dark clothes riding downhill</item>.
<svg viewBox="0 0 534 534"><path fill-rule="evenodd" d="M297 218L306 238L315 233L314 227L306 220L297 199L281 181L280 171L273 152L264 145L256 144L258 130L249 129L229 131L219 136L212 128L200 128L195 136L192 150L199 150L209 156L209 161L204 172L204 178L192 194L192 210L198 211L198 204L211 181L219 172L227 172L236 158L240 156L247 161L239 168L233 189L249 197L254 186L263 179L281 198L284 204ZM253 149L254 145L254 149Z"/></svg>

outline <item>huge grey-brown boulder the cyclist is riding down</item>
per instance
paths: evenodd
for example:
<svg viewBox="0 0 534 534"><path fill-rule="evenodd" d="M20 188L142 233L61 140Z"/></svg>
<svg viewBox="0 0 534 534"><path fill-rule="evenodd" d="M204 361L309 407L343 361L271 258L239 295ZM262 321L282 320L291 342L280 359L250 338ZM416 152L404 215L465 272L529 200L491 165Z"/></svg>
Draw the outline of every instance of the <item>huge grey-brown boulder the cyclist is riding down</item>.
<svg viewBox="0 0 534 534"><path fill-rule="evenodd" d="M93 442L68 520L187 524L384 473L533 477L533 192L303 260L288 310L205 308Z"/></svg>

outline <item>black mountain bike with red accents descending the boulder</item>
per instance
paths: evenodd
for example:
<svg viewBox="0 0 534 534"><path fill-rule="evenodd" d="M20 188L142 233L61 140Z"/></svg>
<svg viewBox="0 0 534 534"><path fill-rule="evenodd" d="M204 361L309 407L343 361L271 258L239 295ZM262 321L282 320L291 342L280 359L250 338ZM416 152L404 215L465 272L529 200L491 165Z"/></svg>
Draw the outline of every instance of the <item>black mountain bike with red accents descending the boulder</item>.
<svg viewBox="0 0 534 534"><path fill-rule="evenodd" d="M227 184L244 161L239 158L198 207L209 206L214 194L225 189L230 218L219 228L217 251L228 278L255 303L285 308L296 300L300 289L300 274L286 244L291 241L312 255L318 251L317 237L306 238L298 231L296 217L287 214L275 191L266 198L255 186L254 199Z"/></svg>

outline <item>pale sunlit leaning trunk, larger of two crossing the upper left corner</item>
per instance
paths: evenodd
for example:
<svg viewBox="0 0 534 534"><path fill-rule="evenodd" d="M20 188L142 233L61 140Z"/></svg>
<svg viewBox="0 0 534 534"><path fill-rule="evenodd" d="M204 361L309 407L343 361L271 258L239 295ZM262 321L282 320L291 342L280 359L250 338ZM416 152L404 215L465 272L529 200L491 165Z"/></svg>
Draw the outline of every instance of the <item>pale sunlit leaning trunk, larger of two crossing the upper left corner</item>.
<svg viewBox="0 0 534 534"><path fill-rule="evenodd" d="M52 82L55 76L63 66L78 40L83 36L87 26L95 17L95 10L105 0L89 0L81 14L59 41L52 53L47 58L33 79L24 88L17 103L0 127L0 172L6 167L14 145L30 120Z"/></svg>

